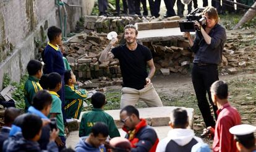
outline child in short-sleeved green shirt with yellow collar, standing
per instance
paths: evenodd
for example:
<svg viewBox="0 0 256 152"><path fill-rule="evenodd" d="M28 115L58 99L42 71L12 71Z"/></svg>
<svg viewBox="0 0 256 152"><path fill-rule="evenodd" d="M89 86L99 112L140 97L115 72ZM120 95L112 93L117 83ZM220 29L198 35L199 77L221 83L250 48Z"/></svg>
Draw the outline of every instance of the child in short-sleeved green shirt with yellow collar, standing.
<svg viewBox="0 0 256 152"><path fill-rule="evenodd" d="M66 148L66 138L64 133L64 121L61 110L61 99L57 92L61 90L61 75L56 72L52 72L48 75L48 90L53 98L53 103L51 104L51 109L49 112L50 118L56 118L57 128L59 129L59 137L56 138L56 143L58 145L59 151Z"/></svg>

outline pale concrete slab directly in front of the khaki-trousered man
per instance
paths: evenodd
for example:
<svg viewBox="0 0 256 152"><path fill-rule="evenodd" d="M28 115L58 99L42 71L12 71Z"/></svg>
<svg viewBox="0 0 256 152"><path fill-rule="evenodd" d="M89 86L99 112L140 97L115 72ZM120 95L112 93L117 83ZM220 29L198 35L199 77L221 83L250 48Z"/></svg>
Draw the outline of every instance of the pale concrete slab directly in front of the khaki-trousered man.
<svg viewBox="0 0 256 152"><path fill-rule="evenodd" d="M163 106L163 107L153 107L153 108L139 108L140 117L147 119L148 125L153 127L156 126L164 126L169 124L169 116L173 109L178 107L175 106ZM189 115L189 126L193 128L193 120L194 120L194 109L193 108L185 108L187 110L187 114ZM117 125L117 128L122 127L122 123L120 122L120 109L105 111L109 115L111 115L114 119L114 122ZM81 112L80 119L82 119L82 115L84 112Z"/></svg>

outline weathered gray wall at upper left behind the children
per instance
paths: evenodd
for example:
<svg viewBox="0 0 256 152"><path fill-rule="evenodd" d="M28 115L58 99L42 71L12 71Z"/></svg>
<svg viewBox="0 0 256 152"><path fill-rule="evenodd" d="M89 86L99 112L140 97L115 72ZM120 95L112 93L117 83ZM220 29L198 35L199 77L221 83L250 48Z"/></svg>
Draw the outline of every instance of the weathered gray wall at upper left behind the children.
<svg viewBox="0 0 256 152"><path fill-rule="evenodd" d="M83 5L84 15L93 0L65 0L69 4ZM78 2L78 3L75 3ZM67 8L67 32L74 30L81 12L79 8ZM46 41L47 28L59 27L59 11L54 0L0 0L0 90L3 75L19 82L25 74L30 59L38 54L36 41Z"/></svg>

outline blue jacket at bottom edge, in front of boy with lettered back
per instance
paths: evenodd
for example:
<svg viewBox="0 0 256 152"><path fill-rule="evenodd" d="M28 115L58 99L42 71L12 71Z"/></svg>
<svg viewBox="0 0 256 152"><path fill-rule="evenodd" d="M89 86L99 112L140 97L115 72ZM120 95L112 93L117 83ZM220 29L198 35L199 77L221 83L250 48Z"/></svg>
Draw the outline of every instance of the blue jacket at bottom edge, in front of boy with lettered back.
<svg viewBox="0 0 256 152"><path fill-rule="evenodd" d="M81 137L79 139L79 143L75 146L75 151L76 152L84 152L84 151L90 151L90 152L101 152L101 151L105 151L106 152L106 148L104 145L101 145L98 148L93 147L92 145L90 145L89 143L86 143L85 140L88 137Z"/></svg>

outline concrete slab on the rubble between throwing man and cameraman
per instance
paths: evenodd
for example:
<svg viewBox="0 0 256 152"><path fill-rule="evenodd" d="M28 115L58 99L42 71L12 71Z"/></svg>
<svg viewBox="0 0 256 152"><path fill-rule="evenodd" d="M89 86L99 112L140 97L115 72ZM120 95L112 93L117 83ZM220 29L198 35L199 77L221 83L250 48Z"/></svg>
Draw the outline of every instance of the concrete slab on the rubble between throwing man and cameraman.
<svg viewBox="0 0 256 152"><path fill-rule="evenodd" d="M162 28L156 30L140 30L137 36L137 40L140 42L145 41L168 41L168 40L185 40L182 36L184 32L181 32L179 27L175 28ZM190 32L194 35L195 32Z"/></svg>

